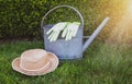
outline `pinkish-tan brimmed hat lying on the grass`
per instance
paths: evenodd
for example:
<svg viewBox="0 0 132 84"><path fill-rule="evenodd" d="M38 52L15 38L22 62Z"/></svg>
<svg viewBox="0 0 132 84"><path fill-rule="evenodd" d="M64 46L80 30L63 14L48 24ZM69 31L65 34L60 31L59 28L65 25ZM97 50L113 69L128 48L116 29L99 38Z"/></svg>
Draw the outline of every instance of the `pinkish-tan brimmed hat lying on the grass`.
<svg viewBox="0 0 132 84"><path fill-rule="evenodd" d="M43 49L30 49L12 61L13 70L26 75L44 75L54 71L58 65L58 58Z"/></svg>

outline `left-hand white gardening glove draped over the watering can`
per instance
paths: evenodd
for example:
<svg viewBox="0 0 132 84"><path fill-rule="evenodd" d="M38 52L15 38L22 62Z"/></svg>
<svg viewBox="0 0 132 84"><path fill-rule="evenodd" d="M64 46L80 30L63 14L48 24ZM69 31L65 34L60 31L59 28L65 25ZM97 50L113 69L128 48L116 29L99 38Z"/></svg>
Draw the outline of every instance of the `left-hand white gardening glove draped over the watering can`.
<svg viewBox="0 0 132 84"><path fill-rule="evenodd" d="M55 41L61 33L66 26L68 22L61 22L54 25L46 34L48 35L50 41Z"/></svg>

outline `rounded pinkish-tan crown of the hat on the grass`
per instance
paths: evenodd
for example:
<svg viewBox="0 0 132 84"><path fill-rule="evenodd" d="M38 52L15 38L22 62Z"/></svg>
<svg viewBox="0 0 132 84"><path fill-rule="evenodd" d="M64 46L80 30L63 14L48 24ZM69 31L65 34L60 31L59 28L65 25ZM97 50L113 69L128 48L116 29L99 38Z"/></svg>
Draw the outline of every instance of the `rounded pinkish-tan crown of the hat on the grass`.
<svg viewBox="0 0 132 84"><path fill-rule="evenodd" d="M47 52L43 49L26 50L21 55L20 67L24 70L38 70L47 64Z"/></svg>

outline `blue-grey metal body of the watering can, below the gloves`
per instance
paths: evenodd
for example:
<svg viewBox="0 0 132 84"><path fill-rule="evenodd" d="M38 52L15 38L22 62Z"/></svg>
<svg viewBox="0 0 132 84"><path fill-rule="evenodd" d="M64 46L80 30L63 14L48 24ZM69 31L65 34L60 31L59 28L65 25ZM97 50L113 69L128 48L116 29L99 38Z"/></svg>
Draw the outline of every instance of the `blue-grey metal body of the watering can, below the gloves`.
<svg viewBox="0 0 132 84"><path fill-rule="evenodd" d="M43 29L45 50L54 52L59 59L80 59L82 57L82 27L79 27L77 35L70 40L66 41L64 38L58 38L51 43L47 39L46 32L53 25L46 25Z"/></svg>

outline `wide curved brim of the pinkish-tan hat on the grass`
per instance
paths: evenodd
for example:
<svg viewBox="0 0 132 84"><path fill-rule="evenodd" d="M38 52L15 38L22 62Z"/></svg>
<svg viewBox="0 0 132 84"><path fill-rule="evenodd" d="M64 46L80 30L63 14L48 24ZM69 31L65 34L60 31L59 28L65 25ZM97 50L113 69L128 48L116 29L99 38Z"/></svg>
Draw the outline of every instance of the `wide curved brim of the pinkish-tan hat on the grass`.
<svg viewBox="0 0 132 84"><path fill-rule="evenodd" d="M47 59L50 60L50 67L47 67L46 69L44 70L41 70L41 71L36 71L36 72L29 72L29 71L23 71L21 68L20 68L20 60L21 58L15 58L13 61L12 61L12 68L13 70L22 73L22 74L25 74L25 75L44 75L46 73L50 73L52 71L54 71L57 65L58 65L58 58L52 53L52 52L47 52Z"/></svg>

